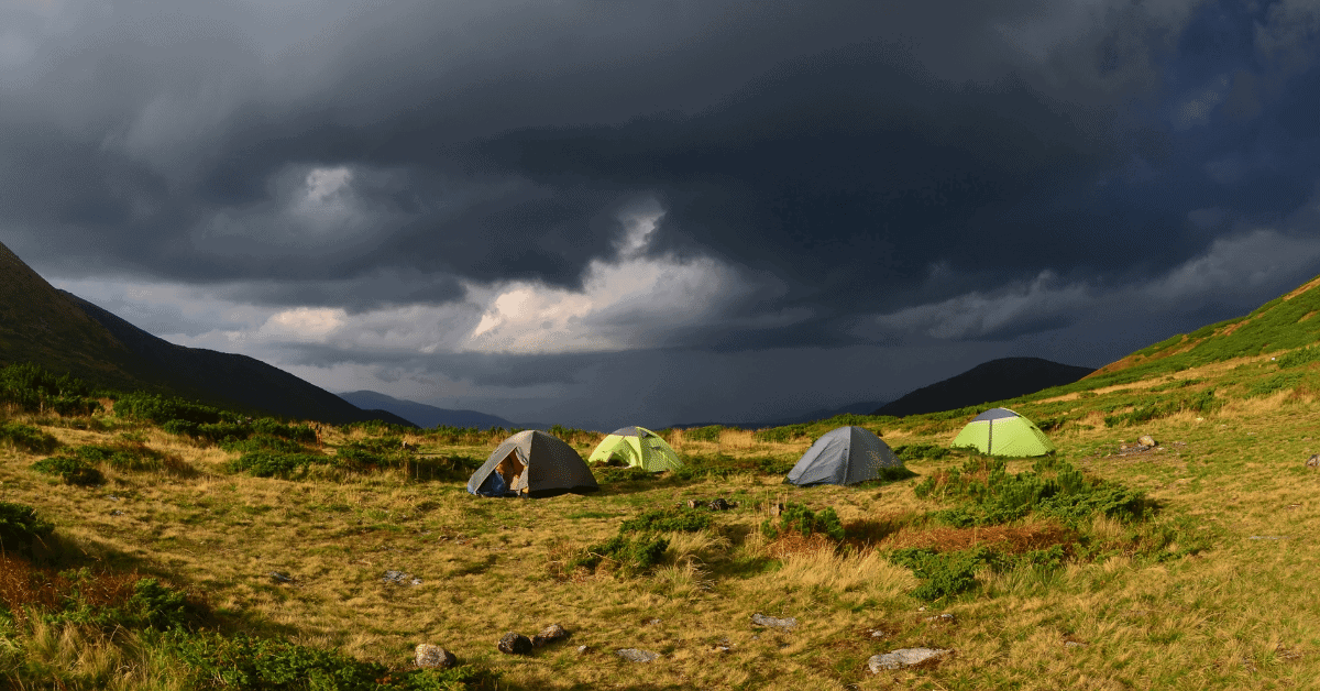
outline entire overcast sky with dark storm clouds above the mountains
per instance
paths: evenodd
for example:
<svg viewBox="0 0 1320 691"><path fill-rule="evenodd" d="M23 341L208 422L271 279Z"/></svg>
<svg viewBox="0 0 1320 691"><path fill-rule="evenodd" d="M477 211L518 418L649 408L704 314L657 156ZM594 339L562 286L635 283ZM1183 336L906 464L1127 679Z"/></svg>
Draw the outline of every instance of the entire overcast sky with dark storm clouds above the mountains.
<svg viewBox="0 0 1320 691"><path fill-rule="evenodd" d="M1320 4L0 0L0 242L611 429L1100 366L1320 273Z"/></svg>

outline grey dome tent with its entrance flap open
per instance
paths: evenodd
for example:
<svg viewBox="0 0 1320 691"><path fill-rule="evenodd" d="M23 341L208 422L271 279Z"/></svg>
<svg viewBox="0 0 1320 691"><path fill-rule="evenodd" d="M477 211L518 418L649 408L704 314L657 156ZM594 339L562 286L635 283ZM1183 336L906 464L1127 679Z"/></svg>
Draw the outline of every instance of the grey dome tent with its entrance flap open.
<svg viewBox="0 0 1320 691"><path fill-rule="evenodd" d="M467 478L467 491L484 497L545 497L598 488L573 447L536 429L506 439Z"/></svg>

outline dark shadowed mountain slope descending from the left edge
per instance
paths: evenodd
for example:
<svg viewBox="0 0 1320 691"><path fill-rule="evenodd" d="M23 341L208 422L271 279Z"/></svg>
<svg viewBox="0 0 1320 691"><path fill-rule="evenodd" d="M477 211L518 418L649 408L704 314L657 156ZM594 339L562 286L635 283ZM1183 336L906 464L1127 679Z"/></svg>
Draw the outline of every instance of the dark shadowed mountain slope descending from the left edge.
<svg viewBox="0 0 1320 691"><path fill-rule="evenodd" d="M203 403L331 424L383 420L342 398L247 355L185 347L46 283L0 244L0 365L32 362L120 391L172 394Z"/></svg>

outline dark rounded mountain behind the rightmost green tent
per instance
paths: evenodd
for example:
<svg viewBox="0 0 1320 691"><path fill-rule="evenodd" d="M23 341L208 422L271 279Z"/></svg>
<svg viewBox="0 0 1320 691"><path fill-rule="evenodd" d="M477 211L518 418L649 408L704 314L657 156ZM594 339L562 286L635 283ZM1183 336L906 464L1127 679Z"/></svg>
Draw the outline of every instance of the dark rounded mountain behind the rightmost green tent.
<svg viewBox="0 0 1320 691"><path fill-rule="evenodd" d="M1092 367L1060 365L1041 358L991 359L957 377L923 386L892 403L880 406L871 415L902 418L1006 400L1052 386L1071 384L1093 371L1096 370Z"/></svg>

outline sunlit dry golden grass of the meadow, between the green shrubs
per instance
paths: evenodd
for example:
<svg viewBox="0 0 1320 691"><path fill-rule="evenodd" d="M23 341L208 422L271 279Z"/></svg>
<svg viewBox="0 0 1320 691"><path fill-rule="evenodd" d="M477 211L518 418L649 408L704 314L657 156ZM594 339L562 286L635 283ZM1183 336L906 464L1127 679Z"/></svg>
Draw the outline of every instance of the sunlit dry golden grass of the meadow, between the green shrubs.
<svg viewBox="0 0 1320 691"><path fill-rule="evenodd" d="M1177 377L1246 377L1234 370L1243 363L1258 359ZM916 527L915 517L946 505L916 499L911 488L961 458L911 462L919 477L871 488L800 489L742 474L499 501L466 494L459 477L235 476L224 470L232 455L145 429L150 448L177 456L195 477L103 469L107 485L71 488L29 470L38 456L0 449L0 489L7 501L55 521L67 543L55 548L86 552L111 569L168 576L252 630L392 663L407 659L417 642L433 642L500 671L508 688L1313 687L1320 595L1312 584L1320 551L1311 528L1320 521L1320 473L1302 464L1320 452L1320 404L1284 391L1230 398L1210 415L1176 414L1110 429L1098 410L1106 395L1076 400L1094 407L1082 408L1082 424L1055 436L1060 456L1146 490L1160 505L1155 523L1181 531L1168 548L1197 535L1208 535L1210 548L1163 563L1118 550L1055 572L987 571L972 595L933 604L907 595L917 581L884 559L887 548L1022 551L1067 540L1067 531L1051 523ZM1131 391L1113 391L1123 395ZM107 443L123 431L46 423L70 445ZM952 439L920 432L923 424L898 424L884 436L891 444ZM1154 435L1166 451L1117 455L1121 440L1140 433ZM360 436L326 428L322 440L333 451ZM409 439L436 455L484 458L494 448ZM764 444L737 431L722 432L718 443L684 441L676 431L671 443L685 453L742 458L801 453L808 441ZM1027 466L1014 462L1010 470ZM708 531L671 535L664 564L649 575L556 572L557 559L615 535L623 518L717 495L739 507L715 514ZM834 507L859 538L845 548L809 539L796 547L767 543L758 530L763 507L785 499ZM1080 530L1102 546L1134 539L1131 526L1105 518ZM387 569L422 584L381 583ZM293 581L272 579L276 571ZM800 624L793 632L758 629L750 622L758 612ZM927 621L940 612L957 621ZM495 651L506 630L531 634L550 622L572 632L569 642L531 658ZM165 662L143 659L131 645L106 645L94 633L33 628L25 654L88 674L110 670L110 688L166 683ZM577 653L579 645L587 651ZM865 670L870 655L924 645L956 655L924 670L879 676ZM628 663L614 654L619 647L663 657Z"/></svg>

